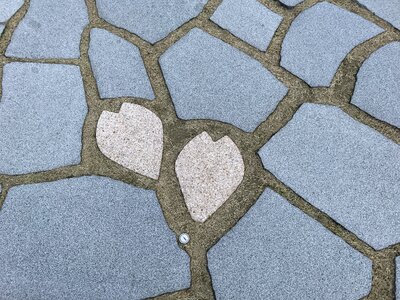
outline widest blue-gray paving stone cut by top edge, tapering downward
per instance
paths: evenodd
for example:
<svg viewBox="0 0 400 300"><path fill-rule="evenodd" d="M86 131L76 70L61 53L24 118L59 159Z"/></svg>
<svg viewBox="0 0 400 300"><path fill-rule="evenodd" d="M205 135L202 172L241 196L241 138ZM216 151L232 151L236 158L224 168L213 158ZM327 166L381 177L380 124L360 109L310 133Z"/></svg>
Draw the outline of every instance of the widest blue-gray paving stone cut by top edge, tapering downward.
<svg viewBox="0 0 400 300"><path fill-rule="evenodd" d="M155 43L198 15L206 0L97 0L108 22Z"/></svg>

